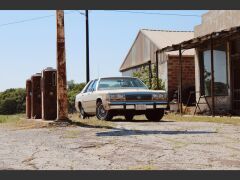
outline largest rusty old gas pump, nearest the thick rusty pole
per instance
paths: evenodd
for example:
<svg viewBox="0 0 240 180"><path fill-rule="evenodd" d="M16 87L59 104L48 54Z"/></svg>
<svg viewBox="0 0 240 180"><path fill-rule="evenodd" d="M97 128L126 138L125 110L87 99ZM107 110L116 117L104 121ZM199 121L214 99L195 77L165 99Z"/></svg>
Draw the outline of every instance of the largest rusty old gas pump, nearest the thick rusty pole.
<svg viewBox="0 0 240 180"><path fill-rule="evenodd" d="M57 70L46 68L42 71L42 119L57 118Z"/></svg>

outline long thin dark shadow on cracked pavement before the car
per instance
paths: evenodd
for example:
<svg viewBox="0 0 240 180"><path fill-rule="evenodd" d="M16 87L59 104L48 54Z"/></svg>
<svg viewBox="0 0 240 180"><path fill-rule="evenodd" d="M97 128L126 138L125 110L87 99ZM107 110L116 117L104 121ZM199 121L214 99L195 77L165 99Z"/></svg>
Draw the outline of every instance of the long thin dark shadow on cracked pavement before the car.
<svg viewBox="0 0 240 180"><path fill-rule="evenodd" d="M128 130L118 129L108 132L98 132L97 136L132 136L132 135L178 135L178 134L212 134L214 131L152 131L152 130Z"/></svg>

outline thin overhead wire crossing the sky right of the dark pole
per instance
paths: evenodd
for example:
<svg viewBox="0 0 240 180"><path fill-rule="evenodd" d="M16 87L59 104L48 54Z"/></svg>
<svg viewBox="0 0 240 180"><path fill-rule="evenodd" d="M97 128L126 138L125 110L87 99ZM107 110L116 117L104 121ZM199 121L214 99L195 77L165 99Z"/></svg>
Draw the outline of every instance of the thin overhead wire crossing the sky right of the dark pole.
<svg viewBox="0 0 240 180"><path fill-rule="evenodd" d="M131 13L131 14L162 15L162 16L201 17L201 15L197 15L197 14L158 13L158 12L128 11L128 10L104 10L104 11L113 11L113 12L119 12L119 13Z"/></svg>

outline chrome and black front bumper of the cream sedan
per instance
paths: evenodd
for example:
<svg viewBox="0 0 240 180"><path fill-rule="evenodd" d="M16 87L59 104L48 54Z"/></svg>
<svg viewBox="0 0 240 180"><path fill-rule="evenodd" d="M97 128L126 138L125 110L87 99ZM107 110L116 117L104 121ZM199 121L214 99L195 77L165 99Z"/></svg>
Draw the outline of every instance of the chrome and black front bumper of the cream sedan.
<svg viewBox="0 0 240 180"><path fill-rule="evenodd" d="M139 109L139 106L144 107ZM168 106L167 101L136 101L136 102L108 102L106 110L147 110L147 109L166 109Z"/></svg>

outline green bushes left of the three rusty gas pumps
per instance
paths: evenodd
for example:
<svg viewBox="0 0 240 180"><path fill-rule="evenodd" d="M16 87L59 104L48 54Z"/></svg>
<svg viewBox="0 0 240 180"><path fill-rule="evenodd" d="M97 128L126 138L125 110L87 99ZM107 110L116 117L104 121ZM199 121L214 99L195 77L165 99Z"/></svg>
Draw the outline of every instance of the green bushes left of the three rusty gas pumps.
<svg viewBox="0 0 240 180"><path fill-rule="evenodd" d="M0 93L0 114L25 113L26 92L23 88L7 89Z"/></svg>

